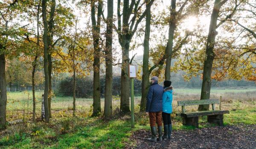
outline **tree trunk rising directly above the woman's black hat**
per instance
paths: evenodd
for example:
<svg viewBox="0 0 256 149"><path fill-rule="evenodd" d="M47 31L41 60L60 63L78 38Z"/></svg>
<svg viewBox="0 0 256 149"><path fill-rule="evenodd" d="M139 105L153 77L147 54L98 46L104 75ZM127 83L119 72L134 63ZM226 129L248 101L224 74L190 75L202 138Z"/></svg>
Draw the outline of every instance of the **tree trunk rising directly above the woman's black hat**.
<svg viewBox="0 0 256 149"><path fill-rule="evenodd" d="M176 28L176 0L171 1L170 20L169 20L169 34L168 42L166 46L166 69L165 69L165 80L171 79L171 61L172 61L172 48L173 48L173 37Z"/></svg>

